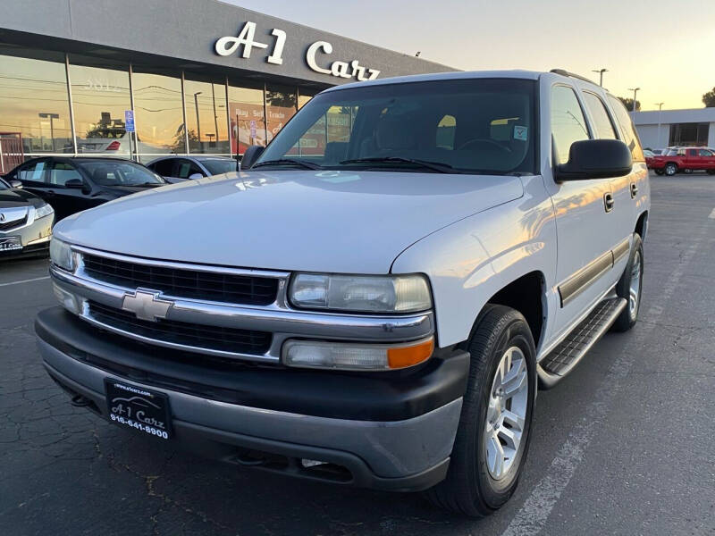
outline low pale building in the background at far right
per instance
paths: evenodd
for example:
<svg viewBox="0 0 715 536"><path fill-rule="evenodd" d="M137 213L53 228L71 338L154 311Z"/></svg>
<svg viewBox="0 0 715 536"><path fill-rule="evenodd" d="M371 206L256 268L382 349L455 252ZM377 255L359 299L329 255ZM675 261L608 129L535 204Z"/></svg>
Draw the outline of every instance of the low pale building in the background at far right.
<svg viewBox="0 0 715 536"><path fill-rule="evenodd" d="M715 147L715 108L631 113L643 147Z"/></svg>

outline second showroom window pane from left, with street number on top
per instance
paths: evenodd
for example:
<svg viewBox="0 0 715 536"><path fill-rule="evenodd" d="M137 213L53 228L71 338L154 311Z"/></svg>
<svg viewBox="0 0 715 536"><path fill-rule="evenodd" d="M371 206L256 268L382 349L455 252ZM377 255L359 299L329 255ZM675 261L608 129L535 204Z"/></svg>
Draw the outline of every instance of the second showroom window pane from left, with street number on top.
<svg viewBox="0 0 715 536"><path fill-rule="evenodd" d="M124 111L131 108L129 68L92 66L96 62L70 56L77 152L127 156L130 134L125 129Z"/></svg>

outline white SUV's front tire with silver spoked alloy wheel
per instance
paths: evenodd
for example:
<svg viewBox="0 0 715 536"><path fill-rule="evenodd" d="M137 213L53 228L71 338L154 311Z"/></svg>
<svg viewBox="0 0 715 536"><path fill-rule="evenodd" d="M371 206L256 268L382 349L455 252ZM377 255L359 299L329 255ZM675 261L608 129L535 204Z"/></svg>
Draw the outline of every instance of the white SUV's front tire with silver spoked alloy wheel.
<svg viewBox="0 0 715 536"><path fill-rule="evenodd" d="M492 514L517 488L534 416L534 339L524 316L487 305L467 349L467 392L447 478L425 492L437 507Z"/></svg>

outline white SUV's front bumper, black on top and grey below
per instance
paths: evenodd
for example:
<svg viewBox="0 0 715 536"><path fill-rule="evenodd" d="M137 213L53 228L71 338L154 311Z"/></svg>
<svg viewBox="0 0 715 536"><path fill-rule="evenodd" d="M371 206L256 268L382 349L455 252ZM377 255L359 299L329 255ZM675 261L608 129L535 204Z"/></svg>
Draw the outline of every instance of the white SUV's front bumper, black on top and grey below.
<svg viewBox="0 0 715 536"><path fill-rule="evenodd" d="M467 381L465 352L391 375L245 365L198 373L179 352L128 344L59 307L38 315L36 331L47 372L98 415L107 417L105 378L162 391L175 439L203 455L383 490L424 490L446 475ZM301 459L328 465L307 468ZM325 470L334 467L340 470Z"/></svg>

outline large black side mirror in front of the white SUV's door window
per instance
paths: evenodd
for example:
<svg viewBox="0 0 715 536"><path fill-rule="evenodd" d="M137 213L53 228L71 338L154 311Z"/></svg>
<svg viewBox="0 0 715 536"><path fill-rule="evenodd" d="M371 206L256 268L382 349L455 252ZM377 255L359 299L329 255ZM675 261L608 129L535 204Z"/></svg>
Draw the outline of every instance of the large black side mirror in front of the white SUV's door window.
<svg viewBox="0 0 715 536"><path fill-rule="evenodd" d="M633 159L627 145L618 139L584 139L571 144L568 162L556 166L556 180L586 180L623 177L631 172Z"/></svg>

